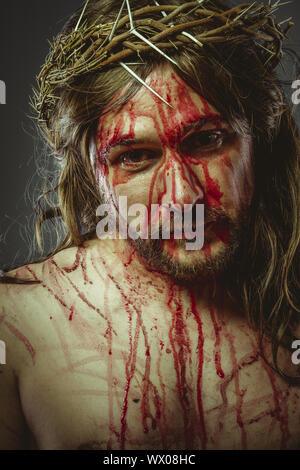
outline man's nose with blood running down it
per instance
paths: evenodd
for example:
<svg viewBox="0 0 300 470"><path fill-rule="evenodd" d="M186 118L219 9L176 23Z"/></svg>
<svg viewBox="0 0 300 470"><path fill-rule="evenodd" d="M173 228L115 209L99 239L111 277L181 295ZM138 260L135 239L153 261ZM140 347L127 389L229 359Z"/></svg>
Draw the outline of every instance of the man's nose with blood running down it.
<svg viewBox="0 0 300 470"><path fill-rule="evenodd" d="M159 204L184 204L203 202L204 191L190 165L175 152L166 155L160 178Z"/></svg>

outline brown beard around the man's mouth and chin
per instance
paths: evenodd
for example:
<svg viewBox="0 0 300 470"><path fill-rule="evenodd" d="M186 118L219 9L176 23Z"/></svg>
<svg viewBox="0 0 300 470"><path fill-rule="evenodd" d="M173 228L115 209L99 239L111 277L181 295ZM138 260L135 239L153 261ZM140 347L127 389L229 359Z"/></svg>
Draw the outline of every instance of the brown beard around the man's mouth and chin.
<svg viewBox="0 0 300 470"><path fill-rule="evenodd" d="M206 220L213 221L212 227L204 232L201 250L185 251L181 257L176 250L185 249L186 240L171 240L173 249L166 249L170 243L160 237L157 240L128 238L141 261L150 271L158 271L179 282L207 282L229 274L237 274L239 253L244 234L247 233L248 208L243 207L236 219L231 219L222 209L205 209ZM217 247L215 246L217 244Z"/></svg>

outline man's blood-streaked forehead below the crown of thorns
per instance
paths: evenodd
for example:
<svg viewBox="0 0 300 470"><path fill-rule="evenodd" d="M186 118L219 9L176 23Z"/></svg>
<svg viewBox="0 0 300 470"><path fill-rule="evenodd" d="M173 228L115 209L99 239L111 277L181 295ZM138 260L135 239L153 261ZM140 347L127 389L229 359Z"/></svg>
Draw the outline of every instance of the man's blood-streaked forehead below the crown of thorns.
<svg viewBox="0 0 300 470"><path fill-rule="evenodd" d="M157 68L145 82L170 106L145 86L121 108L99 120L101 140L115 140L122 134L152 132L163 138L199 120L220 118L220 113L187 85L171 68ZM132 136L131 136L132 137Z"/></svg>

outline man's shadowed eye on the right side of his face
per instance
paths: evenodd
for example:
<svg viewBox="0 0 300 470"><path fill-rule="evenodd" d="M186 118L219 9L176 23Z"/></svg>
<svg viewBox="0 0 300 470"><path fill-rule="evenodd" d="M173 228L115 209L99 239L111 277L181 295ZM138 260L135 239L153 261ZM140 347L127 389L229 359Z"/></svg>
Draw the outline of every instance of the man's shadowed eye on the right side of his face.
<svg viewBox="0 0 300 470"><path fill-rule="evenodd" d="M226 129L214 129L194 132L186 137L182 143L184 153L211 152L227 144L233 133Z"/></svg>

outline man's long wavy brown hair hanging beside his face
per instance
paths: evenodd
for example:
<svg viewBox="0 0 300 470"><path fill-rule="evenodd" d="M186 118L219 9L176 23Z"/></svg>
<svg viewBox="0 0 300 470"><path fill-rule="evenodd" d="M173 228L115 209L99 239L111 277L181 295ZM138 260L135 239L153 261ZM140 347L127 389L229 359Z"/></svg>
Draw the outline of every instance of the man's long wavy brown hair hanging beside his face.
<svg viewBox="0 0 300 470"><path fill-rule="evenodd" d="M180 0L170 4L180 5ZM146 0L131 0L143 7ZM227 6L212 0L212 7ZM120 8L119 0L90 1L83 19L112 22ZM82 9L69 19L62 34L74 30ZM154 15L155 17L155 15ZM193 16L187 17L193 20ZM205 31L205 24L201 26ZM235 273L248 319L259 332L260 344L267 335L272 342L274 369L290 382L277 362L281 344L291 347L293 329L299 322L299 135L286 102L275 67L265 64L266 53L251 36L206 45L201 50L188 44L168 50L179 67L176 73L208 102L240 134L250 128L254 145L255 191L249 211L249 229ZM164 63L147 53L144 64L132 69L145 79L154 67ZM140 83L118 64L83 74L56 90L56 106L40 131L55 162L57 181L45 188L37 222L37 238L43 248L41 227L45 220L57 224L63 233L51 251L80 245L95 236L96 208L101 201L90 161L90 143L99 117L125 103ZM117 92L125 91L118 95ZM270 364L269 364L270 365Z"/></svg>

